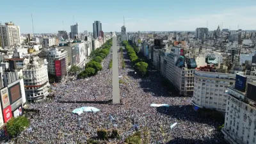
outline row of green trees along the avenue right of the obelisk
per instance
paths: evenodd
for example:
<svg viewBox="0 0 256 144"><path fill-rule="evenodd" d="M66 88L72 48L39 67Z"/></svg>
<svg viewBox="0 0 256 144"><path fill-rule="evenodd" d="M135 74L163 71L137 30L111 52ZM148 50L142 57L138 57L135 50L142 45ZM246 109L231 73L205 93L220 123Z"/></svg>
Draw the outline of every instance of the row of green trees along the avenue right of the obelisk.
<svg viewBox="0 0 256 144"><path fill-rule="evenodd" d="M144 62L143 60L139 59L135 49L138 49L137 47L132 47L128 41L123 41L123 45L125 45L125 49L128 53L128 56L131 60L131 62L134 64L135 70L137 70L142 76L145 76L147 73L148 63Z"/></svg>

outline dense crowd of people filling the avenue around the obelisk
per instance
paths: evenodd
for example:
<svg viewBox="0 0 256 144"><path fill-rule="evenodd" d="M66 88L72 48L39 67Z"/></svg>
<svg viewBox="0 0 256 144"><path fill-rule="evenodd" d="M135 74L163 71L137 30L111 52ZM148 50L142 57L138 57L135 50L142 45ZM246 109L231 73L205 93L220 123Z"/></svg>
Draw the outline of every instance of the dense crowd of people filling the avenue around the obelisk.
<svg viewBox="0 0 256 144"><path fill-rule="evenodd" d="M198 116L191 106L191 97L178 97L161 86L161 76L150 72L142 78L134 72L124 51L126 67L120 68L120 97L122 104L113 105L111 54L96 76L58 83L51 102L29 105L39 109L31 125L17 138L17 143L86 143L97 140L97 129L118 129L120 140L104 143L124 143L136 130L149 143L225 143L217 131L221 125L211 118ZM150 107L150 104L168 104L170 107ZM83 106L100 109L97 113L76 115L72 111ZM171 129L171 125L177 125ZM136 125L136 129L134 129Z"/></svg>

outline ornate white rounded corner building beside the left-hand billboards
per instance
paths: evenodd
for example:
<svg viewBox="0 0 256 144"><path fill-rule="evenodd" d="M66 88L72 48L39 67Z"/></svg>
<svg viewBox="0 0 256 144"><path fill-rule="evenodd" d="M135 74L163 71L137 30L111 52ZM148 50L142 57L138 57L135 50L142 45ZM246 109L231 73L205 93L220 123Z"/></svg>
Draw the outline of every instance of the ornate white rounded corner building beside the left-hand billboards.
<svg viewBox="0 0 256 144"><path fill-rule="evenodd" d="M49 78L47 60L38 56L29 58L24 63L23 76L26 98L30 101L45 99L48 95Z"/></svg>

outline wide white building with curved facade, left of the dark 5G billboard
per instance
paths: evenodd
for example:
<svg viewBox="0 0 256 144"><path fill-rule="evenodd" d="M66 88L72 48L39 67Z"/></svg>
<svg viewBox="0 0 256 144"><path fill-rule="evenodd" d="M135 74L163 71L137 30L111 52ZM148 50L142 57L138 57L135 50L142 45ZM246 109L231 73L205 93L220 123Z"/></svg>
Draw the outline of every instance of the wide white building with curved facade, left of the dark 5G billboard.
<svg viewBox="0 0 256 144"><path fill-rule="evenodd" d="M208 70L208 71L202 71ZM228 86L235 84L236 75L213 72L211 67L195 69L195 86L192 104L198 108L225 112Z"/></svg>

